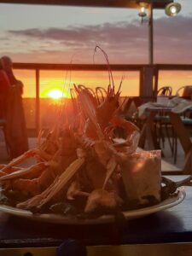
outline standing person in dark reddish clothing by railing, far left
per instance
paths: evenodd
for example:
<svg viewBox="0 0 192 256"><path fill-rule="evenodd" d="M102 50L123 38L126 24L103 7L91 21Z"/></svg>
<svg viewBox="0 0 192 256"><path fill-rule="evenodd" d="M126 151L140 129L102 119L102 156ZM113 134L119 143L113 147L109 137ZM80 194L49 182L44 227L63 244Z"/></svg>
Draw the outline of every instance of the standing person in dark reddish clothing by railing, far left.
<svg viewBox="0 0 192 256"><path fill-rule="evenodd" d="M28 150L26 119L22 104L23 84L15 78L13 64L9 56L3 56L0 63L9 79L5 118L9 156L12 159Z"/></svg>

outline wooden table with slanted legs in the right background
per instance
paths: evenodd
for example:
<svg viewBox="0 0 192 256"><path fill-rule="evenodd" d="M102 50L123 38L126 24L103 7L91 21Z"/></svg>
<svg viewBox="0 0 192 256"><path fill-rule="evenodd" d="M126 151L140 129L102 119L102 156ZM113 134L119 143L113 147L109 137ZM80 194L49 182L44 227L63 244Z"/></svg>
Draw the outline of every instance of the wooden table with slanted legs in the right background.
<svg viewBox="0 0 192 256"><path fill-rule="evenodd" d="M192 173L192 143L190 140L190 131L186 128L181 118L181 113L173 111L172 107L166 106L150 106L145 108L145 122L141 130L141 136L139 141L139 147L144 148L147 143L148 150L160 149L160 143L157 141L157 135L155 131L154 121L157 115L163 113L169 118L170 124L177 136L177 139L181 143L185 159L183 162L183 174ZM192 108L188 108L186 111L192 112Z"/></svg>

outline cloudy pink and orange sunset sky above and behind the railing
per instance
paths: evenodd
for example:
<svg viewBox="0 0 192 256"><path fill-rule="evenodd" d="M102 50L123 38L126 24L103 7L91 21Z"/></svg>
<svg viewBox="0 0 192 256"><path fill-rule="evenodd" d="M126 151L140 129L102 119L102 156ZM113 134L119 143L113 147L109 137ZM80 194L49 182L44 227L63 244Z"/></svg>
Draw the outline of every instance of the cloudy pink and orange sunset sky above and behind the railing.
<svg viewBox="0 0 192 256"><path fill-rule="evenodd" d="M154 10L154 63L192 64L192 1L177 2L182 4L177 17L166 16L164 10ZM146 64L148 24L141 24L137 14L137 9L0 3L0 52L15 62L93 63L93 50L99 44L108 53L110 63ZM96 63L105 63L99 53ZM30 78L28 73L17 72L18 75L27 83L25 93L28 96L29 86L31 89L33 86L32 73ZM62 85L65 75L53 73L53 76ZM93 84L90 74L73 73L72 80L78 76L81 81ZM104 79L104 75L101 76L101 83L107 81L108 75ZM118 83L121 76L122 73L116 76ZM125 84L134 84L137 91L137 73L128 73L125 77ZM48 84L53 81L47 73L42 74L42 84L46 79ZM161 73L160 81L176 87L192 84L192 73L180 73L179 78L176 73Z"/></svg>

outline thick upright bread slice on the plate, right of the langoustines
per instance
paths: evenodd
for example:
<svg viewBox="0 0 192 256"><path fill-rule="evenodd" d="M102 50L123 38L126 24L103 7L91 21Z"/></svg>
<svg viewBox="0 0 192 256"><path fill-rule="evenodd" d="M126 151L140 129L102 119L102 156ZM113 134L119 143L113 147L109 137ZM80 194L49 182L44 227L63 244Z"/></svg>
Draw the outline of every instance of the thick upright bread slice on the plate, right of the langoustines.
<svg viewBox="0 0 192 256"><path fill-rule="evenodd" d="M131 154L120 169L127 203L140 207L160 202L160 150Z"/></svg>

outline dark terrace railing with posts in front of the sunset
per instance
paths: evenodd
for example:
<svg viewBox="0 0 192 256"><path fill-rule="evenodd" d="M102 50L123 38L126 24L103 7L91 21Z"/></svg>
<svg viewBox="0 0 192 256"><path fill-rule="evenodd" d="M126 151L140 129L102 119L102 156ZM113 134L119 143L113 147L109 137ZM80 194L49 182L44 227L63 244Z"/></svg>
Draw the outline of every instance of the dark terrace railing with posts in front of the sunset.
<svg viewBox="0 0 192 256"><path fill-rule="evenodd" d="M152 76L150 78L144 79L148 76L146 69L152 70ZM19 70L34 70L35 71L35 133L37 135L40 127L40 71L107 71L107 65L98 64L42 64L42 63L14 63L14 69ZM159 73L160 71L192 71L192 65L185 64L155 64L150 65L126 65L126 64L112 64L110 65L112 71L137 71L139 72L139 96L145 97L143 95L144 90L148 90L149 94L147 98L151 96L156 96L159 83ZM151 81L148 83L148 81ZM154 81L154 82L153 82ZM144 88L144 90L143 90Z"/></svg>

